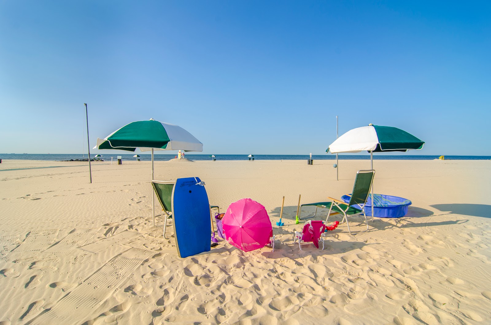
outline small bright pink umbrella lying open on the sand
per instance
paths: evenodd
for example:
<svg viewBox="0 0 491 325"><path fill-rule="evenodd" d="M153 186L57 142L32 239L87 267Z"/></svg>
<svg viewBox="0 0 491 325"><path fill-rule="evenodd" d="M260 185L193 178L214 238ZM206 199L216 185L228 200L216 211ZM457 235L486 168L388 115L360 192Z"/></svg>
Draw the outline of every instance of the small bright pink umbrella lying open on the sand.
<svg viewBox="0 0 491 325"><path fill-rule="evenodd" d="M221 219L225 239L243 251L251 251L270 243L273 230L264 206L252 199L240 199L228 206Z"/></svg>

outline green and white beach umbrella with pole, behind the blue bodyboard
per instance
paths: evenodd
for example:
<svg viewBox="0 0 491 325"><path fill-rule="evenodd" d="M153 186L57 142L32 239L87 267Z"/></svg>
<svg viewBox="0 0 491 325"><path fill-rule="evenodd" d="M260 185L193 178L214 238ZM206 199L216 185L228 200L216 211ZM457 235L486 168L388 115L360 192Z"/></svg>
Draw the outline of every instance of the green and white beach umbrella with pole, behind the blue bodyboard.
<svg viewBox="0 0 491 325"><path fill-rule="evenodd" d="M152 151L152 180L154 179L154 150L203 151L203 143L180 126L159 122L151 118L148 121L131 122L117 129L104 139L97 138L94 149L116 149ZM154 193L152 192L152 202ZM155 205L154 206L155 211ZM154 214L155 225L155 214Z"/></svg>

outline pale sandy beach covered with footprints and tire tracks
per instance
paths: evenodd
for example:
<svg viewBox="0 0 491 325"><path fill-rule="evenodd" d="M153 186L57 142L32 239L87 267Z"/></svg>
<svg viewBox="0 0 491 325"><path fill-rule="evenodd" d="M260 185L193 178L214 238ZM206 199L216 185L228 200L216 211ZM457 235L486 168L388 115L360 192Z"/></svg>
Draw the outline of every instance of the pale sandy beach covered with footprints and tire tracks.
<svg viewBox="0 0 491 325"><path fill-rule="evenodd" d="M149 162L92 163L89 184L86 163L3 160L34 169L0 171L0 325L490 324L491 161L377 160L375 192L408 215L300 251L298 195L340 198L370 165L342 160L336 181L332 163L156 162L156 179L198 176L221 211L250 197L273 223L274 252L221 240L181 259L152 226Z"/></svg>

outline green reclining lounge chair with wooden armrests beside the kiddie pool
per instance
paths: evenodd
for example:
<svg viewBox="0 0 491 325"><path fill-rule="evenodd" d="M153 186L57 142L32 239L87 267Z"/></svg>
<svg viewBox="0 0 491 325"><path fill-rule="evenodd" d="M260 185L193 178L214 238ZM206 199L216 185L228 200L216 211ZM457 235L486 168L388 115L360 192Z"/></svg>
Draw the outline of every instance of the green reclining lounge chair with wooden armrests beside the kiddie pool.
<svg viewBox="0 0 491 325"><path fill-rule="evenodd" d="M327 224L327 219L329 216L333 215L343 215L343 219L341 220L341 223L346 221L346 225L348 226L348 232L351 233L350 230L350 225L348 223L348 216L353 217L353 216L358 216L358 215L363 215L365 217L365 223L367 225L367 229L363 231L368 230L368 221L367 217L365 215L365 204L368 199L368 194L370 193L370 189L372 187L372 182L373 178L375 176L375 170L370 169L370 170L358 170L356 172L356 178L355 178L355 184L353 186L353 192L350 198L350 201L348 203L343 202L342 200L337 200L332 197L327 197L331 202L315 202L315 203L307 203L307 204L302 204L300 205L300 213L299 217L301 215L302 207L303 206L315 206L315 214L312 217L315 217L317 215L317 209L318 208L326 208L329 209L329 213L327 214L326 218L326 224Z"/></svg>

